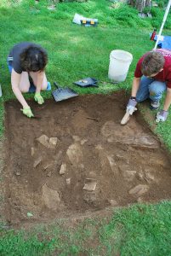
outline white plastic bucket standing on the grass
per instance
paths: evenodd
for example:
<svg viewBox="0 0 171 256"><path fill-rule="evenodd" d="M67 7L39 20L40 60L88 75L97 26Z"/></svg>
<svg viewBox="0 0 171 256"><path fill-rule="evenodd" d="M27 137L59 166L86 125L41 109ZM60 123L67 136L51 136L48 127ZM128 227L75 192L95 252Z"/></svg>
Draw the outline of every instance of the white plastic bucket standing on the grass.
<svg viewBox="0 0 171 256"><path fill-rule="evenodd" d="M123 82L128 73L128 68L133 61L133 55L128 51L114 49L110 54L108 78L112 82Z"/></svg>

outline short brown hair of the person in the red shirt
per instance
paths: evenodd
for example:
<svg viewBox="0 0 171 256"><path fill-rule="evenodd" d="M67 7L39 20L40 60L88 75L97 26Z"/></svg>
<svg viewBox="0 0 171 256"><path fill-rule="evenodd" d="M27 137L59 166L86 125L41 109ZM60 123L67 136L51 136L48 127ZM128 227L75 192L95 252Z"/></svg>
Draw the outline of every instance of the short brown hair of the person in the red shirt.
<svg viewBox="0 0 171 256"><path fill-rule="evenodd" d="M149 77L154 73L159 73L164 66L164 57L162 53L158 51L151 51L145 55L141 64L141 72Z"/></svg>

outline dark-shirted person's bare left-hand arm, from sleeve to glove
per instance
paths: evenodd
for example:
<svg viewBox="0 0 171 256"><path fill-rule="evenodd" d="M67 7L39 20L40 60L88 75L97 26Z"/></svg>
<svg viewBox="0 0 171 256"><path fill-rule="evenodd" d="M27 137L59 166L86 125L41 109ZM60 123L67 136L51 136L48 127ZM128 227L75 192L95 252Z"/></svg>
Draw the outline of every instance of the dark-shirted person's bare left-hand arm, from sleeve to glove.
<svg viewBox="0 0 171 256"><path fill-rule="evenodd" d="M20 84L20 73L16 73L14 69L11 73L11 84L12 84L12 90L14 92L14 95L16 96L17 100L20 102L20 104L23 106L23 108L29 108L24 96L20 92L19 84Z"/></svg>

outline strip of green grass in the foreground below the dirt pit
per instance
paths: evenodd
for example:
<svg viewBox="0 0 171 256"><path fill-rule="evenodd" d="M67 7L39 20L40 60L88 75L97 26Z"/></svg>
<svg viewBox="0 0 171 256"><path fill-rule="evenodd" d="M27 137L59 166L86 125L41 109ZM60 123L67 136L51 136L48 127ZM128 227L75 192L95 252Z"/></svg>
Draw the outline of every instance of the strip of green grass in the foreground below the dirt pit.
<svg viewBox="0 0 171 256"><path fill-rule="evenodd" d="M0 237L0 255L171 255L171 202L116 209L111 218L58 221ZM73 227L74 223L74 227Z"/></svg>

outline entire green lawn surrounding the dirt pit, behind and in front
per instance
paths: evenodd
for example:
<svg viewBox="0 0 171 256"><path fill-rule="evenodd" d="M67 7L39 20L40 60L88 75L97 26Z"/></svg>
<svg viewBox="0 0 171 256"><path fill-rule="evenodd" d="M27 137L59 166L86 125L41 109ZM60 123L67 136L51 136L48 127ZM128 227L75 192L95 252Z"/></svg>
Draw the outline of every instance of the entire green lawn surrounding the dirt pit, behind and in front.
<svg viewBox="0 0 171 256"><path fill-rule="evenodd" d="M14 99L11 90L7 55L21 41L41 44L48 50L48 80L69 85L79 94L103 93L131 88L136 62L154 43L149 40L153 26L161 25L163 10L152 9L153 19L141 20L135 9L120 4L111 9L111 2L91 0L87 3L60 3L55 11L47 9L48 1L8 1L0 3L0 135L4 131L3 103ZM72 24L75 13L99 19L97 27ZM170 28L171 17L165 28ZM169 30L164 31L170 34ZM107 78L112 49L128 50L134 60L128 77L121 84L111 84ZM72 82L85 77L99 79L98 89L80 89ZM43 92L45 98L50 92ZM26 94L26 98L33 97ZM19 109L20 111L20 109ZM153 113L154 115L154 113ZM170 113L171 115L171 113ZM157 125L157 134L171 149L171 118ZM0 255L171 255L171 203L137 205L117 210L111 220L86 220L77 229L65 228L65 223L26 232L4 231L0 224ZM45 230L44 230L45 229Z"/></svg>

